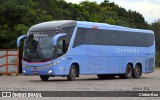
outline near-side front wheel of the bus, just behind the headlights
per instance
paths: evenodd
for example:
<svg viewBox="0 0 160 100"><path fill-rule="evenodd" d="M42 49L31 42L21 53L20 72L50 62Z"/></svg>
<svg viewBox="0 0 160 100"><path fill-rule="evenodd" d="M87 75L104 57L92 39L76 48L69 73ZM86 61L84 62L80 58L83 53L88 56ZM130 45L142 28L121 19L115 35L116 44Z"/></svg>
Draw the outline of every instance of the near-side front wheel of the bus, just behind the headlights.
<svg viewBox="0 0 160 100"><path fill-rule="evenodd" d="M76 79L76 66L75 65L72 65L71 68L70 68L70 72L69 72L69 75L67 76L67 79L69 81L74 81Z"/></svg>

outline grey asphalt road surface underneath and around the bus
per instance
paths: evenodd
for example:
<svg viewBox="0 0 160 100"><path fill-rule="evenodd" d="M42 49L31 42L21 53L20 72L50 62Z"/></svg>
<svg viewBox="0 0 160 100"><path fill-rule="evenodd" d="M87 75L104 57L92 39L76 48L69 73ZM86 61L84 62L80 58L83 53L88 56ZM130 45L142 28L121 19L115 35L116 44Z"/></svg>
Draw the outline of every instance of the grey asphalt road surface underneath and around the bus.
<svg viewBox="0 0 160 100"><path fill-rule="evenodd" d="M119 79L117 77L110 80L99 80L96 75L80 75L76 81L67 81L66 77L51 77L49 81L44 82L39 76L0 76L0 91L160 91L160 69L156 69L154 73L143 74L139 79ZM49 98L44 99L50 100ZM54 100L59 99L64 98L54 98ZM70 100L71 98L65 99ZM96 98L85 99L97 100ZM123 98L118 99L124 100ZM146 98L139 99L145 100ZM159 100L160 98L153 99Z"/></svg>

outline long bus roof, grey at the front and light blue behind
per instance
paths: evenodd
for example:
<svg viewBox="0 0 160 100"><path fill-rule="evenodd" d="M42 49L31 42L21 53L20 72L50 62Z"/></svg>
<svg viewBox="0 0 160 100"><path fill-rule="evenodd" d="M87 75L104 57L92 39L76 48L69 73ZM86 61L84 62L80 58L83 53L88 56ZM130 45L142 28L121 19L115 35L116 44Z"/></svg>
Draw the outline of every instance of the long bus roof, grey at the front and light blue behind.
<svg viewBox="0 0 160 100"><path fill-rule="evenodd" d="M29 29L29 31L56 30L56 29L61 29L62 27L69 27L69 26L76 26L76 25L79 26L79 27L93 27L93 26L96 26L99 29L153 33L153 31L151 31L151 30L134 29L134 28L110 25L110 24L106 24L106 23L74 21L74 20L57 20L57 21L43 22L43 23L33 25Z"/></svg>

